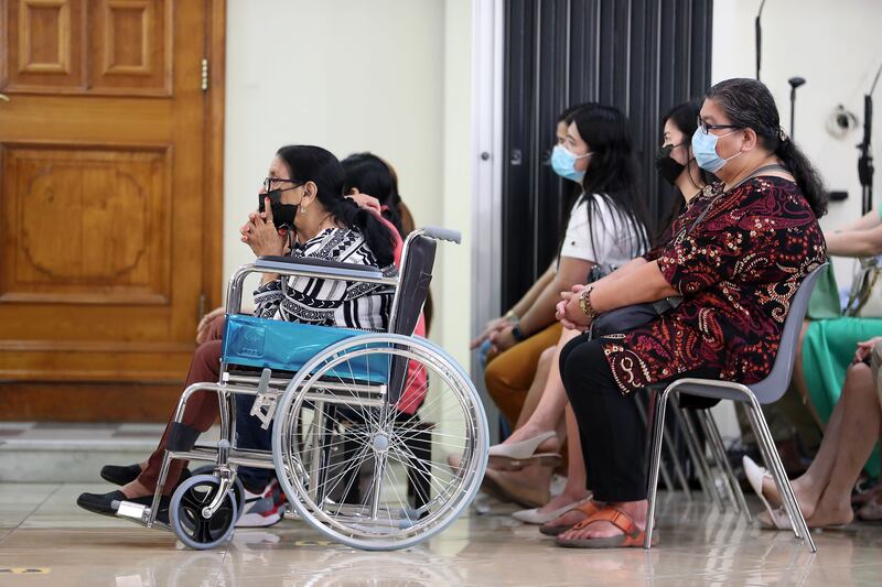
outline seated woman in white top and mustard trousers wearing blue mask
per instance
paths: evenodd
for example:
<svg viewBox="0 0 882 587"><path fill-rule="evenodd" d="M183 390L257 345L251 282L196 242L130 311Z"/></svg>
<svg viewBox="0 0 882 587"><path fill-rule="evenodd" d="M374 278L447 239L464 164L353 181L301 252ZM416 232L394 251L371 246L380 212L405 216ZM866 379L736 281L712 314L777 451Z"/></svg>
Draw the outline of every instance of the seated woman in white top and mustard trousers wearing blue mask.
<svg viewBox="0 0 882 587"><path fill-rule="evenodd" d="M578 177L583 193L570 213L555 264L555 276L539 293L536 303L520 316L516 327L509 326L491 337L495 345L507 350L488 363L486 387L515 428L519 428L533 411L533 404L524 409L530 387L536 384L541 389L545 385L551 371L550 365L556 360L556 349L562 348L574 336L574 333L561 334L559 329L553 330L553 337L547 336L551 330L546 324L549 318L553 319L553 306L560 298L560 292L569 291L576 283L583 283L596 270L606 273L612 268L624 265L648 249L645 195L638 187L637 164L627 119L616 108L589 105L573 111L564 119L564 123L566 132L561 133L552 154L552 166L571 180ZM540 329L545 329L539 339L541 346L531 339L515 344L516 334L528 336ZM529 378L515 380L515 377L523 377L526 372L525 348L536 348L539 354L548 348L552 351L546 354L546 361L539 360L541 355L534 359L537 361L534 365L539 365L539 368L534 369ZM557 373L552 377L557 377ZM510 384L512 381L517 381L518 387ZM517 395L512 393L513 389L517 389ZM562 413L562 405L558 406L558 413ZM559 422L557 427L557 434L549 431L538 436L515 430L512 443L494 447L491 456L503 457L503 463L506 457L518 460L544 454L557 457L563 438L563 422ZM559 457L549 458L546 464L556 460ZM550 477L550 469L546 467L535 472L535 478L518 476L516 483L514 477L490 472L485 489L528 508L544 506L549 499L547 477Z"/></svg>

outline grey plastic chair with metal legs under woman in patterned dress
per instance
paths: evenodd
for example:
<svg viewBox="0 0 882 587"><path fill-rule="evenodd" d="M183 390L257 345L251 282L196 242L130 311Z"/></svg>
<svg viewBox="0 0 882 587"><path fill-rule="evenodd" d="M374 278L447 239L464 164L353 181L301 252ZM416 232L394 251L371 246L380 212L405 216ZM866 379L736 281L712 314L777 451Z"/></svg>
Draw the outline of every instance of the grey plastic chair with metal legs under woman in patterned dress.
<svg viewBox="0 0 882 587"><path fill-rule="evenodd" d="M673 392L687 393L690 395L700 395L702 398L713 398L719 400L731 400L733 402L742 402L747 407L747 416L756 435L760 450L763 454L763 459L768 467L775 485L781 493L787 515L793 525L793 532L797 539L806 541L809 550L815 553L817 547L815 541L811 540L811 533L808 531L808 525L799 510L799 504L793 493L790 481L787 479L787 474L784 466L781 464L775 442L772 438L772 433L768 431L768 425L763 416L763 411L760 404L773 403L784 395L787 387L790 384L790 376L793 374L794 356L796 354L796 345L799 340L799 331L803 326L803 320L808 309L808 301L811 297L811 291L815 289L815 283L820 275L820 272L827 263L818 267L811 271L796 292L796 295L790 300L790 309L787 313L787 318L784 322L784 331L781 337L781 346L778 347L777 356L775 357L775 365L772 367L772 372L768 377L757 383L750 385L743 383L735 383L734 381L720 381L714 379L679 379L670 383L663 392L658 394L656 401L656 413L653 422L653 439L650 450L650 468L649 468L649 512L647 520L655 519L655 502L656 489L658 485L658 468L662 459L662 438L664 436L664 422L665 422L665 407L668 403L668 396ZM648 550L653 539L653 525L646 525L646 541L644 548Z"/></svg>

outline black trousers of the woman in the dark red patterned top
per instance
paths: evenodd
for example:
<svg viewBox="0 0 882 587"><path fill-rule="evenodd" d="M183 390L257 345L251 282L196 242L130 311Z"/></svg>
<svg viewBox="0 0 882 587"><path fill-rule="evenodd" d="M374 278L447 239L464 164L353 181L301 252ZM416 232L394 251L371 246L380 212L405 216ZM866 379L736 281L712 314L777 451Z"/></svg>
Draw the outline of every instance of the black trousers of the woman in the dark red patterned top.
<svg viewBox="0 0 882 587"><path fill-rule="evenodd" d="M579 423L588 485L594 499L646 499L646 426L634 394L619 389L603 347L587 334L572 339L560 352L560 374ZM717 379L719 371L696 369L671 381L686 377Z"/></svg>

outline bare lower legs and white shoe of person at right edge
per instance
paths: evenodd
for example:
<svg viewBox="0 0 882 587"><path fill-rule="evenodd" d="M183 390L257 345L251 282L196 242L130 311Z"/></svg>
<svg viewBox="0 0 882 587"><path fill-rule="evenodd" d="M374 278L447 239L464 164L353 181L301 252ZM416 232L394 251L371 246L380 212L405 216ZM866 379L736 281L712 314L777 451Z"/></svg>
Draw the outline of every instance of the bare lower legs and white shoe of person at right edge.
<svg viewBox="0 0 882 587"><path fill-rule="evenodd" d="M882 406L870 369L870 354L879 344L882 337L858 345L820 449L808 470L792 482L808 528L839 526L854 518L851 490L882 427ZM760 521L770 528L790 530L790 520L772 477L750 457L745 456L743 461L747 480L767 510Z"/></svg>

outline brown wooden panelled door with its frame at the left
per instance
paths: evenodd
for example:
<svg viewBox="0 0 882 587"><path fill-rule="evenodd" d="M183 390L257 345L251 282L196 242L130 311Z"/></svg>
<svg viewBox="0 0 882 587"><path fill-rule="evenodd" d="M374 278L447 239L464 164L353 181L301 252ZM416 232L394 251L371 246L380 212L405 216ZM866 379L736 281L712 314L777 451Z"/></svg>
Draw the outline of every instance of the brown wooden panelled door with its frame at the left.
<svg viewBox="0 0 882 587"><path fill-rule="evenodd" d="M164 420L219 298L223 2L0 8L0 417Z"/></svg>

